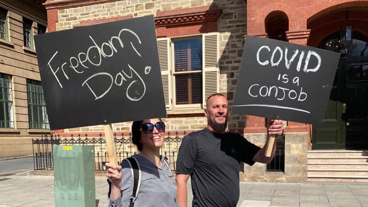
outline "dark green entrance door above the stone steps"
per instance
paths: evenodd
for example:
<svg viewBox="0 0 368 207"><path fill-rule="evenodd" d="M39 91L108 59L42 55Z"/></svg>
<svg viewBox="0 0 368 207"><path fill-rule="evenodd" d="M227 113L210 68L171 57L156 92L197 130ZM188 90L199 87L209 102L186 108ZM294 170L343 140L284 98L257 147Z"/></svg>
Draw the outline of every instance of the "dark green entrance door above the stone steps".
<svg viewBox="0 0 368 207"><path fill-rule="evenodd" d="M368 149L368 57L341 58L312 149Z"/></svg>

